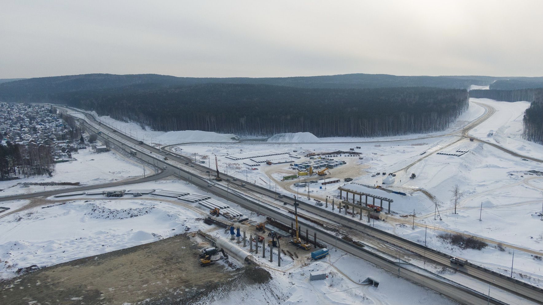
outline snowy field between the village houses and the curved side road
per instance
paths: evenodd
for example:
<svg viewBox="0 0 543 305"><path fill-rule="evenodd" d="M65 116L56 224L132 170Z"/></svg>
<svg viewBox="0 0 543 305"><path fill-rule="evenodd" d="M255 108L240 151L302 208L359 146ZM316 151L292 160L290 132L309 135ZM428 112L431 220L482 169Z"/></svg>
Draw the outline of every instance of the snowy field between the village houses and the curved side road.
<svg viewBox="0 0 543 305"><path fill-rule="evenodd" d="M79 182L81 186L84 186L143 177L143 165L135 163L127 156L120 155L115 151L96 154L89 149L80 149L72 157L77 160L55 164L52 177L43 175L28 178L21 177L19 180L0 181L0 189L2 189L0 196L74 187L20 184L24 182ZM146 173L151 172L152 170L146 167Z"/></svg>

